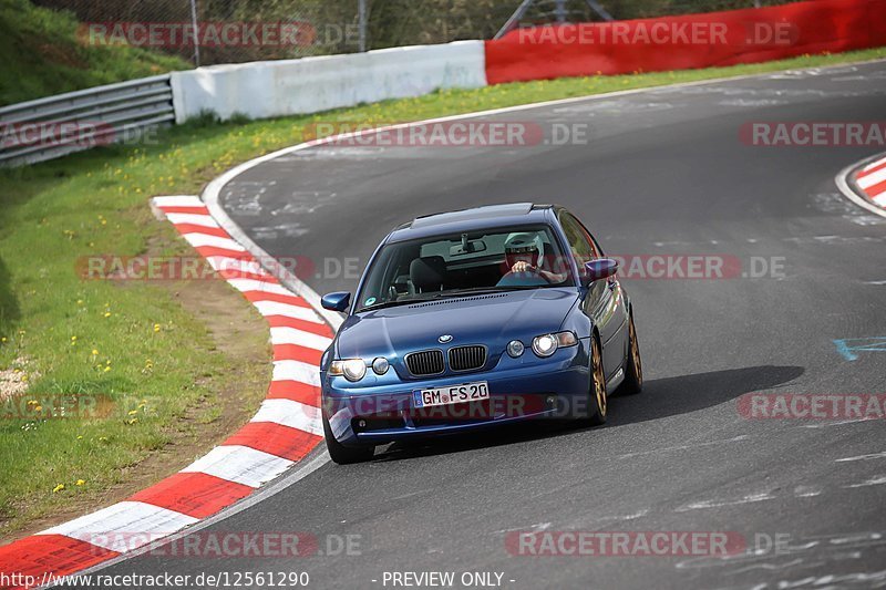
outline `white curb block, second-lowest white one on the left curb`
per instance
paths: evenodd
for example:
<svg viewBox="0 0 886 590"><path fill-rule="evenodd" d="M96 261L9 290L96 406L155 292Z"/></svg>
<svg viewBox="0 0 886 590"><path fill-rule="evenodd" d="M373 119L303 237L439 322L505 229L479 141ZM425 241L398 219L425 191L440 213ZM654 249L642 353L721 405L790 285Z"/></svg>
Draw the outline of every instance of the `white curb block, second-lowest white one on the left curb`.
<svg viewBox="0 0 886 590"><path fill-rule="evenodd" d="M248 446L223 445L198 458L182 473L205 473L249 487L270 482L293 462Z"/></svg>

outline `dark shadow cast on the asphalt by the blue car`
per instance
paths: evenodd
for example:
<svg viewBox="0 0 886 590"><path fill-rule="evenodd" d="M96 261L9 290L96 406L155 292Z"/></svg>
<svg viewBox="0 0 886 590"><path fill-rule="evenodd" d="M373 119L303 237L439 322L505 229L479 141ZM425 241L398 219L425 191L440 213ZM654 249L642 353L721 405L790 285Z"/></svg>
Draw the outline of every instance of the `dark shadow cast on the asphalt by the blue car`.
<svg viewBox="0 0 886 590"><path fill-rule="evenodd" d="M648 380L638 395L614 396L609 404L609 420L601 428L625 426L679 414L688 414L734 400L745 393L779 387L800 375L802 366L761 365L694 373L674 377ZM576 432L575 426L563 423L536 421L502 425L473 434L457 434L406 443L393 443L383 452L377 449L374 462L449 455L538 441ZM441 444L441 441L445 444Z"/></svg>

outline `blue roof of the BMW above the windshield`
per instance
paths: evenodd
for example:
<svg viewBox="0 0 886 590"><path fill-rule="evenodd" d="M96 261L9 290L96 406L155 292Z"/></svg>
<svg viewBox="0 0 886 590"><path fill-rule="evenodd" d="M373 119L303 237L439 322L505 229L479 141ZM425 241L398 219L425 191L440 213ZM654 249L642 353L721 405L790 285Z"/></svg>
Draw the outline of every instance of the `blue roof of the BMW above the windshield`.
<svg viewBox="0 0 886 590"><path fill-rule="evenodd" d="M416 217L394 228L387 241L404 241L457 231L549 222L553 205L507 203Z"/></svg>

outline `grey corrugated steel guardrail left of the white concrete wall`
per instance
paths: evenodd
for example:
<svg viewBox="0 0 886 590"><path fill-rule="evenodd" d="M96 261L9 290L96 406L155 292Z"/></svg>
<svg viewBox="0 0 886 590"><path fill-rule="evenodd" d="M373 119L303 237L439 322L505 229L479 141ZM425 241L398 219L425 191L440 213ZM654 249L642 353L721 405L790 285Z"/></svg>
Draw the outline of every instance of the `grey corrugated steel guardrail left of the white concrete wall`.
<svg viewBox="0 0 886 590"><path fill-rule="evenodd" d="M52 159L172 125L169 80L143 77L0 108L0 165Z"/></svg>

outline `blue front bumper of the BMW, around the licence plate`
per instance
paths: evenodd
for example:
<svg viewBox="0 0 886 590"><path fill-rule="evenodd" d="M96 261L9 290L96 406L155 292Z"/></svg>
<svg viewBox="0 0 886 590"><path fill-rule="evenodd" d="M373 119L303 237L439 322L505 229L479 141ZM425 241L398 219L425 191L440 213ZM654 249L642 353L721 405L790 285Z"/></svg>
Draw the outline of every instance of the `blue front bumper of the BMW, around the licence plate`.
<svg viewBox="0 0 886 590"><path fill-rule="evenodd" d="M420 381L368 387L334 386L341 380L323 375L322 406L336 439L363 446L443 434L470 432L533 418L565 418L588 412L588 341L560 349L530 365L502 363L495 369L445 374ZM526 354L532 354L527 351ZM485 381L490 400L416 408L413 392Z"/></svg>

